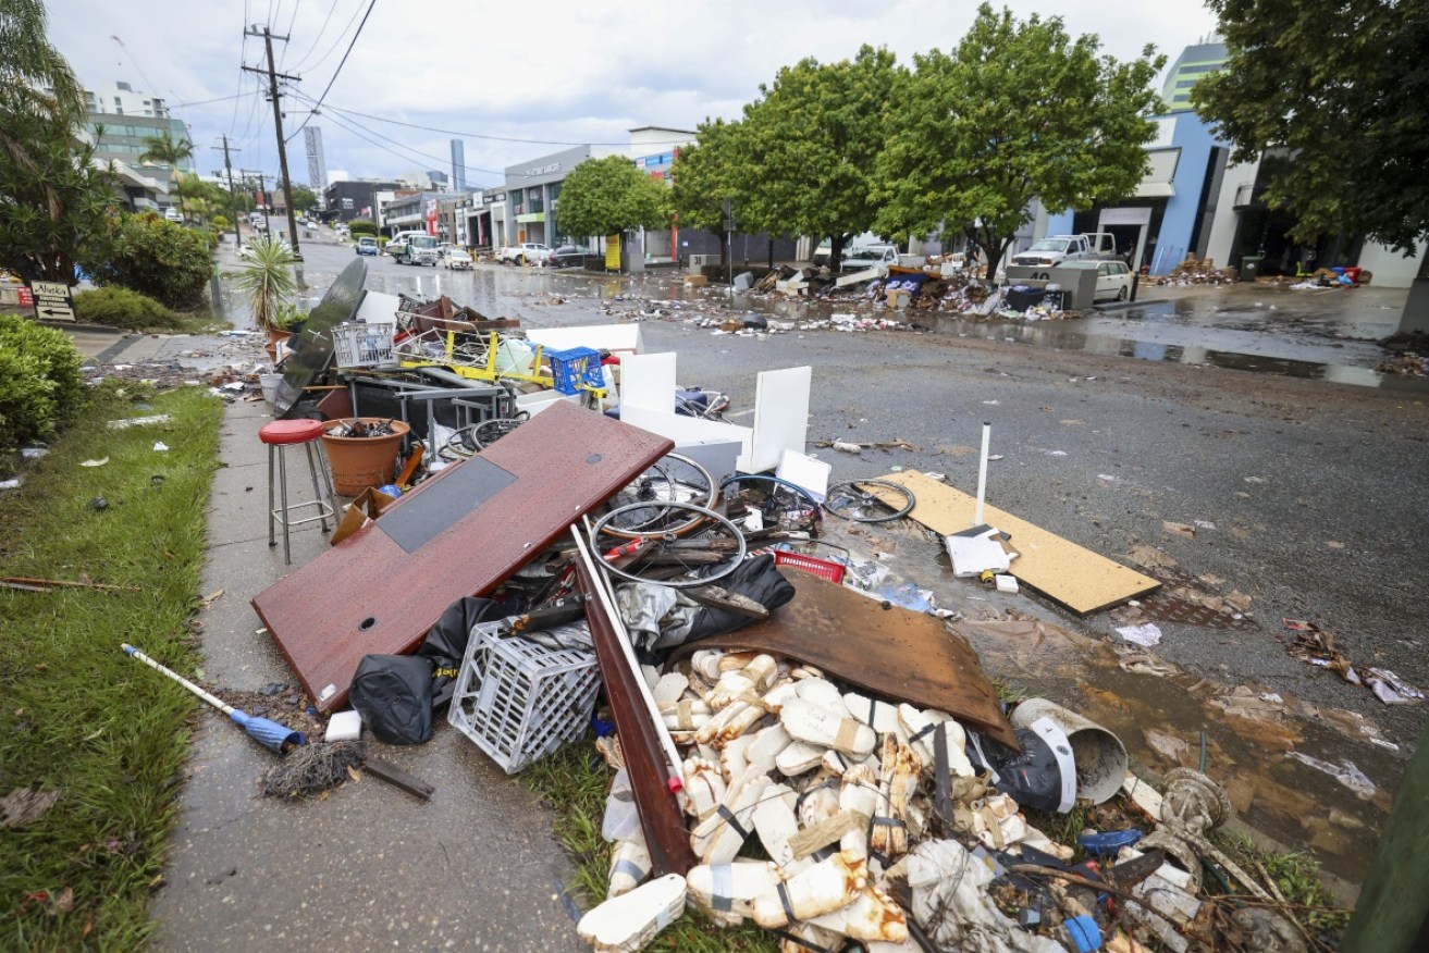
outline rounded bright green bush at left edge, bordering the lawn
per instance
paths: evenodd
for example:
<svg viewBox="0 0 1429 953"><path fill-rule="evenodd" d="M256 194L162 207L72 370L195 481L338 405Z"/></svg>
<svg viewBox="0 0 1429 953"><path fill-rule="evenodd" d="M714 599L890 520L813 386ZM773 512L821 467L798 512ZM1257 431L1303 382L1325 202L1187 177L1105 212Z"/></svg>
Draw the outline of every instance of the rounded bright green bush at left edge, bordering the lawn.
<svg viewBox="0 0 1429 953"><path fill-rule="evenodd" d="M64 331L0 314L0 470L31 440L54 436L84 400L83 359Z"/></svg>

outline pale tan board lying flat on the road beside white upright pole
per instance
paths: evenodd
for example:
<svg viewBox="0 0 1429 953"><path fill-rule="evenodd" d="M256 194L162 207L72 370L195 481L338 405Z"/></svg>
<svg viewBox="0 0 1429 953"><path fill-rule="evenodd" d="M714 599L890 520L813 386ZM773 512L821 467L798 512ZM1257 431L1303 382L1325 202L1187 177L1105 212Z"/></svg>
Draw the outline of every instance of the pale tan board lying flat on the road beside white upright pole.
<svg viewBox="0 0 1429 953"><path fill-rule="evenodd" d="M902 483L912 490L917 503L909 516L935 533L949 536L973 524L977 500L946 483L913 470L880 479ZM1123 603L1160 586L1150 576L995 506L983 507L983 523L1012 539L1012 547L1019 553L1012 560L1012 574L1017 582L1077 614Z"/></svg>

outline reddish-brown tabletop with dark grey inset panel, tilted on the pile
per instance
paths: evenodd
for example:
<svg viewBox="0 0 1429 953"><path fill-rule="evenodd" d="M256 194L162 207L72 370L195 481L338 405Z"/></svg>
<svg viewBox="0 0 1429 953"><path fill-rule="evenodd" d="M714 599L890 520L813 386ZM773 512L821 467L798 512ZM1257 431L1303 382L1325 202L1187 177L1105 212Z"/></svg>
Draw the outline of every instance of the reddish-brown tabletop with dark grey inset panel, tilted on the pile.
<svg viewBox="0 0 1429 953"><path fill-rule="evenodd" d="M404 494L253 607L309 696L334 710L363 656L416 649L447 606L492 592L672 446L557 403ZM444 529L433 513L444 514Z"/></svg>

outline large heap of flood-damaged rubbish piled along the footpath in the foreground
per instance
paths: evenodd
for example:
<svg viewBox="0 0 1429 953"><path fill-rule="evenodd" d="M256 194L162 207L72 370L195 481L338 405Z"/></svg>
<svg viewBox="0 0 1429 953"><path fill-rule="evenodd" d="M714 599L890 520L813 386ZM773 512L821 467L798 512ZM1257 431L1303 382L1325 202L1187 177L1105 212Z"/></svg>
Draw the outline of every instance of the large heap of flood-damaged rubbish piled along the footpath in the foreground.
<svg viewBox="0 0 1429 953"><path fill-rule="evenodd" d="M760 373L745 427L637 324L523 330L363 293L364 267L273 400L394 446L344 490L334 544L253 599L297 709L330 719L307 740L229 704L282 753L267 793L366 764L427 797L363 736L417 744L443 717L507 773L593 746L616 770L607 893L579 923L597 950L687 910L790 953L1325 949L1212 839L1232 814L1213 780L1153 786L1107 729L1009 706L959 614L856 552L916 524L956 577L1079 614L1160 587L986 504L987 426L976 494L916 471L839 483L805 453L809 367Z"/></svg>

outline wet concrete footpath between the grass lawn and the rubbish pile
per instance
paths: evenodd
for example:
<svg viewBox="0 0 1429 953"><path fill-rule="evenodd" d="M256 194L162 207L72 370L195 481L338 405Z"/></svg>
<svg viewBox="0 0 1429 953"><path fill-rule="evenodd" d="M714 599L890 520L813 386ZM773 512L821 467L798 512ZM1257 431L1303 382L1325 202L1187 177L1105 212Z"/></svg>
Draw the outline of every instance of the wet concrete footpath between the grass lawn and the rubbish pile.
<svg viewBox="0 0 1429 953"><path fill-rule="evenodd" d="M262 401L224 413L196 593L223 590L201 617L204 676L240 692L294 683L249 600L327 547L316 523L294 530L292 567L282 539L267 544L257 433L269 420ZM289 454L293 486L306 479L302 459ZM380 603L382 593L352 597ZM432 800L373 777L326 800L263 797L259 779L276 756L206 707L153 902L153 949L584 949L562 893L569 864L549 807L444 720L427 744L370 744L433 784Z"/></svg>

